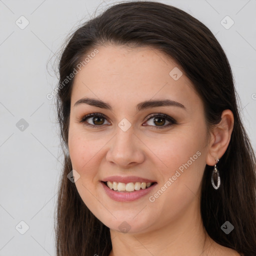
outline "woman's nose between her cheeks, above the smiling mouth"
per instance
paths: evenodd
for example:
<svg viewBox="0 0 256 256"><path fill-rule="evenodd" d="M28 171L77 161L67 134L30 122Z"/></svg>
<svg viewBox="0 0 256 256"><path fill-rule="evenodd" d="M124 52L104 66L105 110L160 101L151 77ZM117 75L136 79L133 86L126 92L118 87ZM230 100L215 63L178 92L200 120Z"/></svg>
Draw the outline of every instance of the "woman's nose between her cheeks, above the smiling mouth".
<svg viewBox="0 0 256 256"><path fill-rule="evenodd" d="M110 140L111 144L106 153L106 160L118 167L130 168L144 161L141 141L133 133L132 127L123 131L117 128L117 133Z"/></svg>

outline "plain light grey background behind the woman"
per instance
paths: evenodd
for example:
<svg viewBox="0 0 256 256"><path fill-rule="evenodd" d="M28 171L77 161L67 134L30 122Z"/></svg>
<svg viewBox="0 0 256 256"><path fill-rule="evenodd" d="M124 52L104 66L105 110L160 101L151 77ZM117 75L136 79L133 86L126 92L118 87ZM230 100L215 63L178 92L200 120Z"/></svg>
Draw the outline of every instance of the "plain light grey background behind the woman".
<svg viewBox="0 0 256 256"><path fill-rule="evenodd" d="M0 0L0 255L55 255L53 213L62 156L54 101L46 98L57 84L51 65L70 31L96 7L98 14L114 2ZM160 2L199 19L220 42L255 149L256 0ZM29 21L24 29L15 23L24 24L21 15ZM226 15L234 21L229 29L221 24ZM16 126L21 118L28 123L23 131ZM29 227L24 234L20 221Z"/></svg>

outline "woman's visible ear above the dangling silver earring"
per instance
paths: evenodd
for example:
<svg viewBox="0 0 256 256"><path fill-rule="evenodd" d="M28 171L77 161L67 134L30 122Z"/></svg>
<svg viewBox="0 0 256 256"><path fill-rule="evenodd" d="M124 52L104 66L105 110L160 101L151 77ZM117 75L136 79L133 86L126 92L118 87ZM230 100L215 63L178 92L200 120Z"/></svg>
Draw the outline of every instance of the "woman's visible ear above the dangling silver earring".
<svg viewBox="0 0 256 256"><path fill-rule="evenodd" d="M233 130L233 123L234 117L232 111L230 109L223 110L220 122L210 131L206 164L213 166L217 159L226 151Z"/></svg>

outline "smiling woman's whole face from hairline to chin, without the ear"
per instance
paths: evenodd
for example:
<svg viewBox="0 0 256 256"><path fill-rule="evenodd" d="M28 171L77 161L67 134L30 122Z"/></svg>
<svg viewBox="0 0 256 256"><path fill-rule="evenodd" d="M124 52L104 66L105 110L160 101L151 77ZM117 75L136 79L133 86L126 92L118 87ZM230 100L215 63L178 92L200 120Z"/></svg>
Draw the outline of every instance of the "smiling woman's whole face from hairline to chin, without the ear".
<svg viewBox="0 0 256 256"><path fill-rule="evenodd" d="M131 233L199 210L207 127L192 83L157 49L97 49L71 92L68 147L83 202L110 229Z"/></svg>

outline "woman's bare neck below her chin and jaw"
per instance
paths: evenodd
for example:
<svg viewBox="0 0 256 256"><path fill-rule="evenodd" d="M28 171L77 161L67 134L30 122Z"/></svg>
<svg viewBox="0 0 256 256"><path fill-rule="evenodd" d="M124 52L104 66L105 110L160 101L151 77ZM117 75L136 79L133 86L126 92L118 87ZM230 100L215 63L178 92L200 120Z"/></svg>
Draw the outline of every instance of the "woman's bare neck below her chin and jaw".
<svg viewBox="0 0 256 256"><path fill-rule="evenodd" d="M203 227L199 201L195 198L182 215L158 228L143 233L121 233L110 229L112 250L109 256L206 255L215 242Z"/></svg>

